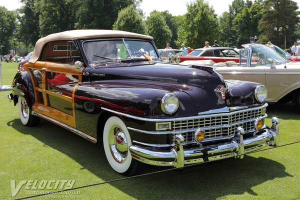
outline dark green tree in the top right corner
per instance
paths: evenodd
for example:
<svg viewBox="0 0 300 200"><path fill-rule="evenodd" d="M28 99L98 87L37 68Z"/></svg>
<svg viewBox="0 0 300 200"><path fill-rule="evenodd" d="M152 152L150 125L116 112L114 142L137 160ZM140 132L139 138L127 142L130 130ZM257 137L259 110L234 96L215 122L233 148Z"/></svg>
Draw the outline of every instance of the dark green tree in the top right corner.
<svg viewBox="0 0 300 200"><path fill-rule="evenodd" d="M285 35L286 44L291 46L296 39L295 30L299 22L297 3L292 0L265 0L263 8L265 12L258 25L261 30L259 42L271 41L283 48Z"/></svg>

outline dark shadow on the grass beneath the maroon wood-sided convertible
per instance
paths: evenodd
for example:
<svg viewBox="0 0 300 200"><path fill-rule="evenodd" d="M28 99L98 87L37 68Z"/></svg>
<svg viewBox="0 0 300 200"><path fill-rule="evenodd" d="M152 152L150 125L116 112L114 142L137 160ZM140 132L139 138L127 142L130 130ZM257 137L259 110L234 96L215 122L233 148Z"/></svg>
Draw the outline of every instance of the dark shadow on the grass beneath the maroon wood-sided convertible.
<svg viewBox="0 0 300 200"><path fill-rule="evenodd" d="M92 144L45 120L41 120L36 127L23 126L19 119L9 121L7 125L32 135L43 142L44 147L50 146L66 154L83 166L82 169L89 170L104 181L123 177L110 168L101 144ZM148 166L143 173L160 169L165 168ZM245 156L242 160L218 160L109 184L136 199L215 199L244 192L255 196L257 194L251 187L285 176L290 175L281 163L263 157ZM82 186L79 181L76 186ZM90 183L96 182L91 180Z"/></svg>

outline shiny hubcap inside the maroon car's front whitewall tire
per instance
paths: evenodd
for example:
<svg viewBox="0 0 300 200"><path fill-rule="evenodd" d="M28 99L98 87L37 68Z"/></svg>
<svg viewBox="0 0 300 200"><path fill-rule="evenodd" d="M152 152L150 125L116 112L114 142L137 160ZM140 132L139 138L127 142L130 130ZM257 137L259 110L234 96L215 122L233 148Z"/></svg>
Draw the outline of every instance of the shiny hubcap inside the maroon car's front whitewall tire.
<svg viewBox="0 0 300 200"><path fill-rule="evenodd" d="M110 128L108 143L113 158L119 163L124 162L127 158L128 144L126 136L119 126L115 125Z"/></svg>

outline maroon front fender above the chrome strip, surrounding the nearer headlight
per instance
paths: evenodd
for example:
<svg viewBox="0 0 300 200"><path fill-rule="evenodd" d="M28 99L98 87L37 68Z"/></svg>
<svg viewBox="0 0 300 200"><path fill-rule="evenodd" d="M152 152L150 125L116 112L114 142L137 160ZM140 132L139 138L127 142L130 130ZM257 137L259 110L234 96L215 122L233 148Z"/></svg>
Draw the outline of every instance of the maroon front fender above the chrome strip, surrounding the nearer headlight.
<svg viewBox="0 0 300 200"><path fill-rule="evenodd" d="M168 92L175 93L179 99L179 108L172 117L197 114L192 99L183 91L149 84L133 85L125 80L81 83L75 91L75 102L76 106L82 106L85 101L91 101L97 108L104 107L135 116L167 117L170 115L162 112L160 101Z"/></svg>

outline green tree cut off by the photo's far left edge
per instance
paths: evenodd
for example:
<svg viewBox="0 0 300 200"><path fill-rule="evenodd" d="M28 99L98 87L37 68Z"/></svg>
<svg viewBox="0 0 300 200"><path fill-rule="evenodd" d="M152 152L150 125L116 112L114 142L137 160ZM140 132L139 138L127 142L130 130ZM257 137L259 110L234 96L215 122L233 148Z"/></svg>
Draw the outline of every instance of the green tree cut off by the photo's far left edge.
<svg viewBox="0 0 300 200"><path fill-rule="evenodd" d="M9 41L13 37L13 31L16 27L16 16L13 11L0 6L0 54L9 52Z"/></svg>

